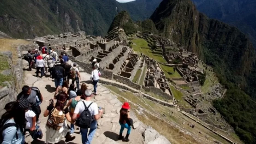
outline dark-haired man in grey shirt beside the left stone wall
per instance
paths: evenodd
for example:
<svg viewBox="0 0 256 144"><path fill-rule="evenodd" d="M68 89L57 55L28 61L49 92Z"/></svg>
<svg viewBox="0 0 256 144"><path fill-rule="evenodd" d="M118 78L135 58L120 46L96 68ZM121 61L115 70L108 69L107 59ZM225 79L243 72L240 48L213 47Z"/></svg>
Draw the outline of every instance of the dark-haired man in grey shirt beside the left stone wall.
<svg viewBox="0 0 256 144"><path fill-rule="evenodd" d="M37 97L40 100L38 103ZM31 110L36 114L37 123L41 123L39 121L39 115L41 113L40 103L43 102L43 96L40 90L37 87L29 87L27 85L22 87L22 92L20 92L17 96L17 100L25 98L31 105Z"/></svg>

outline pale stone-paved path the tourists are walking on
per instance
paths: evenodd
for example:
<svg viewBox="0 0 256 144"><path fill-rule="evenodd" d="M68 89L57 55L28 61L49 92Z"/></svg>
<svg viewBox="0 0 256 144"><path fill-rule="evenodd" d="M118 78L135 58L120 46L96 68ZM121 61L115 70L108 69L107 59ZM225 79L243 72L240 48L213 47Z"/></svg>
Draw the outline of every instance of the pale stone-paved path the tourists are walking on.
<svg viewBox="0 0 256 144"><path fill-rule="evenodd" d="M26 63L25 63L26 64ZM35 71L26 71L25 72L25 83L29 86L36 86L40 89L44 100L41 104L41 115L40 120L41 124L40 128L42 129L43 133L45 133L46 128L45 124L47 121L47 117L43 117L43 112L47 108L49 104L49 100L53 98L54 94L54 82L50 78L37 78L34 75ZM90 78L89 74L82 74L82 80L88 80ZM92 89L93 86L91 84L87 84L88 88ZM98 93L99 95L95 96L93 98L93 101L98 104L98 106L101 106L105 108L105 114L103 115L103 118L99 119L98 125L99 128L97 129L97 132L94 136L94 139L92 141L93 144L108 144L108 143L127 143L122 141L117 141L117 137L120 130L120 125L118 123L119 121L119 110L122 106L122 103L117 99L116 95L113 95L106 87L104 87L102 84L99 83L98 85ZM134 118L136 119L136 118ZM79 133L78 130L76 130L77 133ZM123 135L126 134L126 130L124 130ZM76 139L73 140L73 142L70 142L70 144L75 143L81 143L81 135L80 134L73 134L73 136L76 136ZM42 143L44 143L45 137L42 139ZM31 143L33 140L31 139L31 136L29 134L26 134L26 142ZM115 142L116 141L116 142ZM32 143L40 143L38 141L34 141ZM62 141L62 143L65 143ZM142 144L142 136L141 131L139 128L136 130L132 130L132 133L130 134L130 142L128 143L138 143Z"/></svg>

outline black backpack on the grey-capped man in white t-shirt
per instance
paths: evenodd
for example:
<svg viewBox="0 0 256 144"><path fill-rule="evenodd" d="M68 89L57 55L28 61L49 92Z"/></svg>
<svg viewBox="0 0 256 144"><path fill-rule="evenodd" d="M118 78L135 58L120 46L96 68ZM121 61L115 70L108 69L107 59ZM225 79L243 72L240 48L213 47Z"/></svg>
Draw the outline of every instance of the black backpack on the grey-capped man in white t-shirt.
<svg viewBox="0 0 256 144"><path fill-rule="evenodd" d="M92 102L93 103L93 102ZM91 122L92 122L92 115L91 113L89 112L89 107L91 106L91 104L86 107L84 101L83 101L83 104L84 104L84 111L80 114L79 118L76 120L76 125L80 128L90 128L91 126Z"/></svg>

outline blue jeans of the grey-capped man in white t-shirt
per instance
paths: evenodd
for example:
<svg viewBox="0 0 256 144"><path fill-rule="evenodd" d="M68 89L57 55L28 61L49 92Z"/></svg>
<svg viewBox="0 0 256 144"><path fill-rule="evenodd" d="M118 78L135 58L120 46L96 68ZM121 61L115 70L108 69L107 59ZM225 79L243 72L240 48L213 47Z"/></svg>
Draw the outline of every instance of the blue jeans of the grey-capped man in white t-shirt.
<svg viewBox="0 0 256 144"><path fill-rule="evenodd" d="M88 128L80 128L80 133L82 135L82 144L91 144L93 136L97 130L97 121L91 122L90 131L88 134Z"/></svg>

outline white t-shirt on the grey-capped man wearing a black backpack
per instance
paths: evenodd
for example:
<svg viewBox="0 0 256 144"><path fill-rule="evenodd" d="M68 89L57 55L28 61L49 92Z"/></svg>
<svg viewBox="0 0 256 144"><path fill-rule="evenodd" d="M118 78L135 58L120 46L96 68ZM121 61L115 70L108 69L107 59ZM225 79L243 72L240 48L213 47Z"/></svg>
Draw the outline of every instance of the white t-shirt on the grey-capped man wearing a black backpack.
<svg viewBox="0 0 256 144"><path fill-rule="evenodd" d="M85 102L85 105L87 107L90 105L90 103L92 103L92 101L85 101L85 100L79 101L76 105L74 113L81 114L85 110L83 101ZM88 110L92 116L97 115L99 113L98 105L96 103L92 103Z"/></svg>

